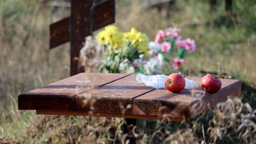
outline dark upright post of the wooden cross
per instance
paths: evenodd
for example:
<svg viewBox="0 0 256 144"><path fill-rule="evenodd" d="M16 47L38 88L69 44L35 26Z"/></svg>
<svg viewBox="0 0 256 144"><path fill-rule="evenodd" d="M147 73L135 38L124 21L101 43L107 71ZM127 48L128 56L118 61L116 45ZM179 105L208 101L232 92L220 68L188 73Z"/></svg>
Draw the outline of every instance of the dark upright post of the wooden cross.
<svg viewBox="0 0 256 144"><path fill-rule="evenodd" d="M79 53L83 47L84 38L92 35L91 29L92 0L71 0L70 14L70 76L79 72Z"/></svg>

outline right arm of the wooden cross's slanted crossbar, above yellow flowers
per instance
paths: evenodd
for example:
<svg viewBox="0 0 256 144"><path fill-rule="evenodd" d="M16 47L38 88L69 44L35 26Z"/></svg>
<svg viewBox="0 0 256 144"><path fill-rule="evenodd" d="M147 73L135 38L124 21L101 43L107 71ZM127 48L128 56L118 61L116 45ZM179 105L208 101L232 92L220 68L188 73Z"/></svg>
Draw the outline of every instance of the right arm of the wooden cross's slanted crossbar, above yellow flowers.
<svg viewBox="0 0 256 144"><path fill-rule="evenodd" d="M92 31L114 23L115 1L107 0L91 7Z"/></svg>

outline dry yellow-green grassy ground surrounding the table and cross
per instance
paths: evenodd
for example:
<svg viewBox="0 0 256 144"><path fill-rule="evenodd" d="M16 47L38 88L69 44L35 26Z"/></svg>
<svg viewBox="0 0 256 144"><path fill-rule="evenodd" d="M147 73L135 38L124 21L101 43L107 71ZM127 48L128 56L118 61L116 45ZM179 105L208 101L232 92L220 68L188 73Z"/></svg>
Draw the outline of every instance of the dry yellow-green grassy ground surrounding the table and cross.
<svg viewBox="0 0 256 144"><path fill-rule="evenodd" d="M116 2L114 25L123 32L134 27L153 41L159 29L177 23L183 38L194 39L197 44L196 52L185 58L182 73L239 79L242 94L190 121L141 121L140 142L256 142L255 1L234 1L229 14L221 0L212 13L208 1L179 0L168 11L169 17L165 6L159 12L145 5ZM0 2L1 139L20 143L123 143L120 118L41 116L17 108L19 94L69 76L69 43L49 50L50 23L69 14L69 8L49 7L46 0ZM160 73L173 73L168 68L167 64Z"/></svg>

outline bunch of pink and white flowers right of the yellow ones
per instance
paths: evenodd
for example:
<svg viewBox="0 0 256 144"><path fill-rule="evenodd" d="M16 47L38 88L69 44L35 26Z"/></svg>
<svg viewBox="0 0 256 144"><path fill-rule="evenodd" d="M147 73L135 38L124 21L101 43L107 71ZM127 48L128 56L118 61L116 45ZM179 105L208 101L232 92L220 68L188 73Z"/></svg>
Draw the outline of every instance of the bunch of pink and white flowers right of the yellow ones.
<svg viewBox="0 0 256 144"><path fill-rule="evenodd" d="M155 41L151 41L148 47L148 53L151 57L156 57L157 55L157 59L160 57L162 61L170 62L173 60L172 67L176 70L183 68L183 57L186 55L186 53L188 51L195 52L196 50L194 40L191 40L190 38L181 40L182 36L178 35L178 32L180 31L180 28L167 28L166 32L159 30L155 37ZM171 54L174 53L175 46L177 46L177 56L173 58Z"/></svg>

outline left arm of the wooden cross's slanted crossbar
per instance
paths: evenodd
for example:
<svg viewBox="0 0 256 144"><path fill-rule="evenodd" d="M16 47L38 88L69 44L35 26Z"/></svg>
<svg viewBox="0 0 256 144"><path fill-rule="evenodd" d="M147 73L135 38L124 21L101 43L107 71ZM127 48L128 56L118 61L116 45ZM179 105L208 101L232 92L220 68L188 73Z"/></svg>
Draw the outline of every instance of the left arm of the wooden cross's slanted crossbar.
<svg viewBox="0 0 256 144"><path fill-rule="evenodd" d="M70 18L66 17L50 25L50 49L70 41Z"/></svg>

